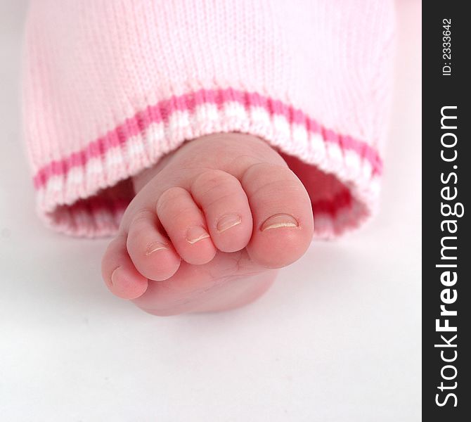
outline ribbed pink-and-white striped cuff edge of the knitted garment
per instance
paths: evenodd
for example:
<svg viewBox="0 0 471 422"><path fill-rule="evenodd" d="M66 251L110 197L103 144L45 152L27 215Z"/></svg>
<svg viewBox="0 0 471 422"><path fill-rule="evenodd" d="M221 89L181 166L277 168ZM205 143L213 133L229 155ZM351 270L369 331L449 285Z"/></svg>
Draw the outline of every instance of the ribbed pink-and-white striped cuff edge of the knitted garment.
<svg viewBox="0 0 471 422"><path fill-rule="evenodd" d="M39 215L66 234L114 234L126 203L107 203L96 193L150 167L183 141L215 132L260 136L280 151L335 174L347 193L340 200L313 204L316 237L354 229L375 212L382 162L368 143L337 134L273 98L236 89L201 89L148 106L82 151L41 167L34 175ZM77 200L93 196L97 200L74 208Z"/></svg>

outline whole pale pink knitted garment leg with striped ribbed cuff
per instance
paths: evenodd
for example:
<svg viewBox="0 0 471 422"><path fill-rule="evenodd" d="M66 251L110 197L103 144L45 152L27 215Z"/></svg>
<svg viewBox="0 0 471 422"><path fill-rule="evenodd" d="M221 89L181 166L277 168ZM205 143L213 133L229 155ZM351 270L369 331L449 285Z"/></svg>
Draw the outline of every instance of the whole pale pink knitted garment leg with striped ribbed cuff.
<svg viewBox="0 0 471 422"><path fill-rule="evenodd" d="M307 187L315 235L378 205L394 8L387 0L32 0L24 123L37 208L117 231L129 178L183 141L260 136Z"/></svg>

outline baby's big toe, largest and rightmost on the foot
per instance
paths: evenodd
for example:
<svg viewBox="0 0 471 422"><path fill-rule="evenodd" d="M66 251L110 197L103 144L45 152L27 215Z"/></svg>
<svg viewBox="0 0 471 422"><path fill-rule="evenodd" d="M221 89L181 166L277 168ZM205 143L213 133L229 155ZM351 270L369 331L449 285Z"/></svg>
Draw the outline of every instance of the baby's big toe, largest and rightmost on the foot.
<svg viewBox="0 0 471 422"><path fill-rule="evenodd" d="M311 200L295 174L267 163L250 167L242 179L254 219L247 245L252 260L264 267L285 267L311 243L314 222Z"/></svg>

